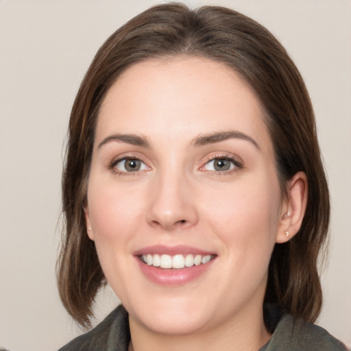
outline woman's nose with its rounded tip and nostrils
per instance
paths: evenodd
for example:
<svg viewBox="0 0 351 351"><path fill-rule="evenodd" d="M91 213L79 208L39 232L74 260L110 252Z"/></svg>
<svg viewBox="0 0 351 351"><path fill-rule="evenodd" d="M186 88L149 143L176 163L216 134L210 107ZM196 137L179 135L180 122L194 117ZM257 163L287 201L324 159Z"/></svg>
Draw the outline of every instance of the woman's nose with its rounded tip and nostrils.
<svg viewBox="0 0 351 351"><path fill-rule="evenodd" d="M189 228L198 221L194 186L184 175L166 172L154 179L149 189L147 222L172 231Z"/></svg>

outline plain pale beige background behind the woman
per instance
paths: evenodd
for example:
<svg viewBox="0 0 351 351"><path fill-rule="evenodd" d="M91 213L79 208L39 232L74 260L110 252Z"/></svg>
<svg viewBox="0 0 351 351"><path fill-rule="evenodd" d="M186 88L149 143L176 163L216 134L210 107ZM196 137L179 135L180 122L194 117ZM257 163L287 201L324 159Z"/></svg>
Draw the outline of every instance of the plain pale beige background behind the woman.
<svg viewBox="0 0 351 351"><path fill-rule="evenodd" d="M128 2L128 4L127 4ZM80 330L60 305L62 149L78 85L101 43L152 0L0 0L0 346L56 350ZM351 346L351 1L217 0L265 25L300 68L332 193L319 324ZM100 295L99 317L117 300Z"/></svg>

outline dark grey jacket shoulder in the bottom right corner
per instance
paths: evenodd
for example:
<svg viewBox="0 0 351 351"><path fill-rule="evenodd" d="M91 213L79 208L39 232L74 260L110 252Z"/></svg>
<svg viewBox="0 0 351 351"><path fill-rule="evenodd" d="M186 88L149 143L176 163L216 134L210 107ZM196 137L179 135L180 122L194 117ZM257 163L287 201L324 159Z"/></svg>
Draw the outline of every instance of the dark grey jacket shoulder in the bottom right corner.
<svg viewBox="0 0 351 351"><path fill-rule="evenodd" d="M263 350L346 351L346 347L324 328L285 315L280 319L271 341Z"/></svg>

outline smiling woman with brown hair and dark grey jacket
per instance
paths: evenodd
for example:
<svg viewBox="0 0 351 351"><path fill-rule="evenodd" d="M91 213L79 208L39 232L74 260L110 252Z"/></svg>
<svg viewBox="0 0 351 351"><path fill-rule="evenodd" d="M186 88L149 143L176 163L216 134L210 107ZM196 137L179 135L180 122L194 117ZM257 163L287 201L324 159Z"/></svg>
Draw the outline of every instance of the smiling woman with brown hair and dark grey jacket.
<svg viewBox="0 0 351 351"><path fill-rule="evenodd" d="M306 152L308 150L308 152ZM63 175L61 350L345 350L311 324L328 186L308 93L278 41L226 8L158 5L99 49Z"/></svg>

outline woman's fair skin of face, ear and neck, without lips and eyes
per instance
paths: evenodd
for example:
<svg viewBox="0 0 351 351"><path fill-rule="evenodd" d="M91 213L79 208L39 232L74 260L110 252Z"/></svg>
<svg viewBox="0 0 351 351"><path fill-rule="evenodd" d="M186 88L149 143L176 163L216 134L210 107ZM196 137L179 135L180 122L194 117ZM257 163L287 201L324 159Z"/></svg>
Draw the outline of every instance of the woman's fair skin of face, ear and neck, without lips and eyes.
<svg viewBox="0 0 351 351"><path fill-rule="evenodd" d="M300 228L306 177L295 175L282 197L262 111L236 73L202 58L135 64L108 91L86 223L108 283L130 314L134 350L258 350L269 340L262 315L269 258L276 242ZM227 131L252 140L194 145L199 136ZM149 145L106 139L117 133ZM125 157L140 159L141 169L116 164ZM213 160L223 157L234 163L217 171ZM145 277L136 250L179 244L215 260L186 284Z"/></svg>

